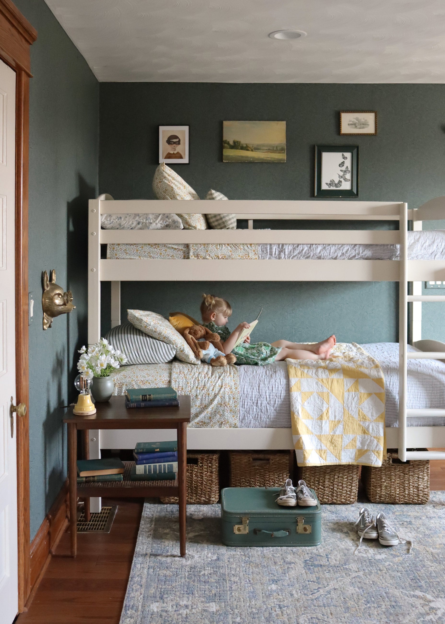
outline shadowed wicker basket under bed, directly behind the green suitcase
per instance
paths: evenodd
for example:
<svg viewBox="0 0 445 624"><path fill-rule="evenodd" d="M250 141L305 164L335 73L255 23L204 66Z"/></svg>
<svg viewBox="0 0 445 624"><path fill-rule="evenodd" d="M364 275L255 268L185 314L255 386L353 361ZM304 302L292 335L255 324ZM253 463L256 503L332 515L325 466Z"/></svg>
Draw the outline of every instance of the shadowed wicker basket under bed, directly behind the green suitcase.
<svg viewBox="0 0 445 624"><path fill-rule="evenodd" d="M289 452L231 451L230 487L282 487L289 479Z"/></svg>

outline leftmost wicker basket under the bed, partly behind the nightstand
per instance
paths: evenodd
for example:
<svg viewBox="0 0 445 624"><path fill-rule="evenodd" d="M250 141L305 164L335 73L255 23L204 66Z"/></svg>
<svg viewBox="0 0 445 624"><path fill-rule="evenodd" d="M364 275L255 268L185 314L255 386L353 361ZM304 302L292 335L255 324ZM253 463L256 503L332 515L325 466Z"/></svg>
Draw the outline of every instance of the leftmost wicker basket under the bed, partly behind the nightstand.
<svg viewBox="0 0 445 624"><path fill-rule="evenodd" d="M219 499L219 453L187 453L187 503L211 505ZM178 497L161 497L177 503Z"/></svg>

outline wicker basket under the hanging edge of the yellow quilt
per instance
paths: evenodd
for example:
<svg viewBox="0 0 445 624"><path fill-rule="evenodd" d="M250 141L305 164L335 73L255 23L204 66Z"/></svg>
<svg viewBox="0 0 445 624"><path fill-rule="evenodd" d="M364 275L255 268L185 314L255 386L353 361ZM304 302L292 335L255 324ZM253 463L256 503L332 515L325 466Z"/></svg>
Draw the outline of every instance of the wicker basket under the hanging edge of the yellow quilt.
<svg viewBox="0 0 445 624"><path fill-rule="evenodd" d="M299 478L317 493L322 505L350 505L357 500L360 466L302 466Z"/></svg>

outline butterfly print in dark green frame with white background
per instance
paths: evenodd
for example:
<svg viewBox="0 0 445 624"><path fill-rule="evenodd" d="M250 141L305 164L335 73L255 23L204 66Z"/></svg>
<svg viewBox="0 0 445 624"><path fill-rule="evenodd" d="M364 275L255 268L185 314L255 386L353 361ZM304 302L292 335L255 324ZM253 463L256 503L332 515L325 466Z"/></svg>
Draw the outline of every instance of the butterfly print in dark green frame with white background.
<svg viewBox="0 0 445 624"><path fill-rule="evenodd" d="M358 145L315 145L315 197L358 197Z"/></svg>

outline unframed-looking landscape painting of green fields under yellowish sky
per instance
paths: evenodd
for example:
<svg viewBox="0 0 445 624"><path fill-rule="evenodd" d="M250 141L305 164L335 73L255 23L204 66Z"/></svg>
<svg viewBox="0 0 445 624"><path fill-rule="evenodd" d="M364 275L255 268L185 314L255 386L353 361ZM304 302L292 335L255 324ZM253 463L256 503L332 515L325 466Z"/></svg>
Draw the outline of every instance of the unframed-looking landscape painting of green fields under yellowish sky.
<svg viewBox="0 0 445 624"><path fill-rule="evenodd" d="M222 122L222 162L286 162L286 122Z"/></svg>

